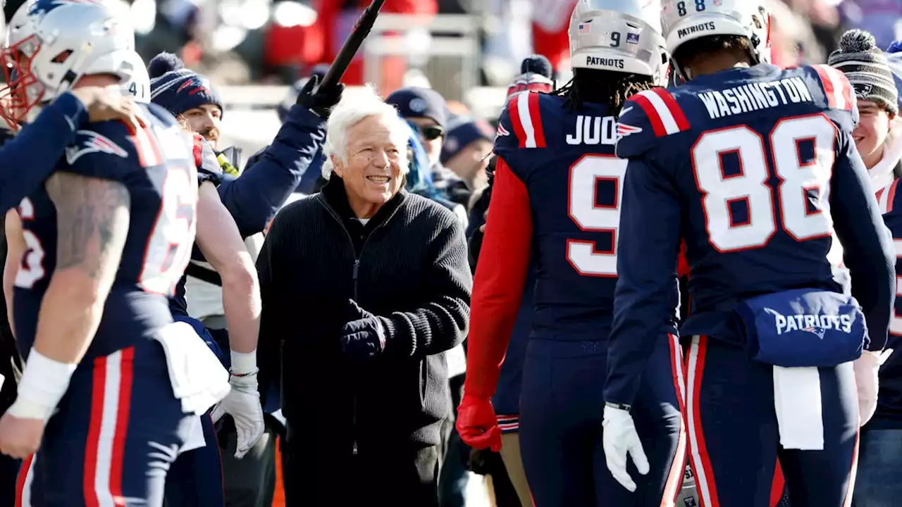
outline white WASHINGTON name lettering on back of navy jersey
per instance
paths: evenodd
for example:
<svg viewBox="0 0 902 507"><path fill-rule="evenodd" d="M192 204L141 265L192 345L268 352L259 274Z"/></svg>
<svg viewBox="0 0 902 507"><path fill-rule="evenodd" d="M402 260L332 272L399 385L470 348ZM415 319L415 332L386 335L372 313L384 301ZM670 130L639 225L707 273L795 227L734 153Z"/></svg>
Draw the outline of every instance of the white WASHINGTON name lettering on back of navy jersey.
<svg viewBox="0 0 902 507"><path fill-rule="evenodd" d="M802 78L787 78L769 83L750 83L723 91L698 94L712 118L739 115L768 107L812 102L811 92Z"/></svg>

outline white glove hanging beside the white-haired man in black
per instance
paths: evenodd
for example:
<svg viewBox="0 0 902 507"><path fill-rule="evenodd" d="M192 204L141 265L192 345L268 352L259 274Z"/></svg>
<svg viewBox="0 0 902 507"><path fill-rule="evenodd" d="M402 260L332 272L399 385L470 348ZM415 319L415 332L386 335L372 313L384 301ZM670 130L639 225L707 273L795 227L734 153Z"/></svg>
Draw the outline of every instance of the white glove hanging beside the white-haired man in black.
<svg viewBox="0 0 902 507"><path fill-rule="evenodd" d="M235 419L235 457L241 459L263 436L263 409L257 392L257 373L245 376L232 375L228 381L232 391L213 409L213 422L225 414Z"/></svg>

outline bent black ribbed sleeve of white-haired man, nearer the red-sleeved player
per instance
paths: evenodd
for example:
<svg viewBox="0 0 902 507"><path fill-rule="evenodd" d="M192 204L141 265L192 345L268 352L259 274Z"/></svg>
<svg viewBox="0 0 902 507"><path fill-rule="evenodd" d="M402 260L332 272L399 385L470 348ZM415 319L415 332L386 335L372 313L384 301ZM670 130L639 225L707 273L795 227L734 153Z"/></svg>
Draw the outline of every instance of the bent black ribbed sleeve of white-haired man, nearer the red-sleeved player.
<svg viewBox="0 0 902 507"><path fill-rule="evenodd" d="M434 260L425 281L428 301L419 309L380 317L386 328L386 354L423 358L464 341L473 290L464 229L453 217L439 229L429 248Z"/></svg>

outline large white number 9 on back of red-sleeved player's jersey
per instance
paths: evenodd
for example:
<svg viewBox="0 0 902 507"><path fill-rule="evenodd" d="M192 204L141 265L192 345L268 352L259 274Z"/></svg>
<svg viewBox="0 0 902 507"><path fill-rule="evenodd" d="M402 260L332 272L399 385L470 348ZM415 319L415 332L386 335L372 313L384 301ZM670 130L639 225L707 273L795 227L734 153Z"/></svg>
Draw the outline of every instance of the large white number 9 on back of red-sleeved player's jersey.
<svg viewBox="0 0 902 507"><path fill-rule="evenodd" d="M623 175L627 161L613 155L584 155L570 167L567 191L567 212L570 219L582 231L611 233L612 248L603 252L594 241L568 239L566 259L584 276L617 276L617 230L620 227L620 205L623 193ZM598 182L613 182L613 203L599 205Z"/></svg>

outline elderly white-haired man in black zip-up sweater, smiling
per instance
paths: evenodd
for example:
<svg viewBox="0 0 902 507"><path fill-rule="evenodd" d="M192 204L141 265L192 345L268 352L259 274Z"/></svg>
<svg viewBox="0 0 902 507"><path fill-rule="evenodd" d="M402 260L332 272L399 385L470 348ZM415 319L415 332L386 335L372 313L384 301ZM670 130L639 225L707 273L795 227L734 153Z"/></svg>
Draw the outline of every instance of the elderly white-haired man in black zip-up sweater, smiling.
<svg viewBox="0 0 902 507"><path fill-rule="evenodd" d="M403 189L407 141L372 89L346 93L327 185L281 210L257 262L288 505L438 505L445 353L466 335L473 281L455 215Z"/></svg>

